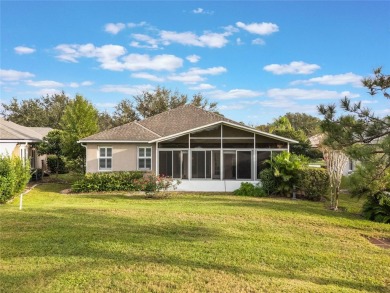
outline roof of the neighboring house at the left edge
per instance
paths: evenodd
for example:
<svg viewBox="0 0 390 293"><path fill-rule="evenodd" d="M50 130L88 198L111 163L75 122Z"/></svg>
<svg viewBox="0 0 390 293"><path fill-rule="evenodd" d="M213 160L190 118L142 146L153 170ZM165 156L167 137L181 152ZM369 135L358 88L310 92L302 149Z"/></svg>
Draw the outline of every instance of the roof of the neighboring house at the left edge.
<svg viewBox="0 0 390 293"><path fill-rule="evenodd" d="M51 130L48 127L25 127L0 118L0 141L41 141Z"/></svg>

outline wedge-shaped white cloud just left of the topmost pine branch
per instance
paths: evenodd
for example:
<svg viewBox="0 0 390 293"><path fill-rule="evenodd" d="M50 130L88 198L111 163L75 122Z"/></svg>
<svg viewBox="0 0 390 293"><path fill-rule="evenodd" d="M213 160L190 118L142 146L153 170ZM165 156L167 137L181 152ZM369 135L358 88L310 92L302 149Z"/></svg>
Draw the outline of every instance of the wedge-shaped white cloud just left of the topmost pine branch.
<svg viewBox="0 0 390 293"><path fill-rule="evenodd" d="M323 75L321 77L314 77L307 80L296 80L291 84L324 84L324 85L344 85L344 84L352 84L354 86L361 86L361 80L363 76L354 74L352 72L344 73L344 74L336 74L336 75Z"/></svg>

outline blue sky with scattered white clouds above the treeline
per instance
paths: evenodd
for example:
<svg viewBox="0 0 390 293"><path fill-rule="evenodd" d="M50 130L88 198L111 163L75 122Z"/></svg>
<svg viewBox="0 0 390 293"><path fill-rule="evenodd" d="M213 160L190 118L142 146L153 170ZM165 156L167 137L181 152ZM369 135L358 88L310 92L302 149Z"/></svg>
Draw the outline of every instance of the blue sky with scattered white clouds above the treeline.
<svg viewBox="0 0 390 293"><path fill-rule="evenodd" d="M386 1L1 1L1 102L64 90L99 111L157 85L258 125L390 72Z"/></svg>

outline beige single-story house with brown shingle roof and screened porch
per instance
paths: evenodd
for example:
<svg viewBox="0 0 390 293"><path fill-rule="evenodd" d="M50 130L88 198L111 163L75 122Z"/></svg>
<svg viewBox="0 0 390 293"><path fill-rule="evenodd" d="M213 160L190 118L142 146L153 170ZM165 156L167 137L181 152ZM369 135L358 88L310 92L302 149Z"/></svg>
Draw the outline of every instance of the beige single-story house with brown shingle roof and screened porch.
<svg viewBox="0 0 390 293"><path fill-rule="evenodd" d="M180 179L178 190L232 191L257 182L264 161L294 140L184 105L79 141L87 172L150 171Z"/></svg>

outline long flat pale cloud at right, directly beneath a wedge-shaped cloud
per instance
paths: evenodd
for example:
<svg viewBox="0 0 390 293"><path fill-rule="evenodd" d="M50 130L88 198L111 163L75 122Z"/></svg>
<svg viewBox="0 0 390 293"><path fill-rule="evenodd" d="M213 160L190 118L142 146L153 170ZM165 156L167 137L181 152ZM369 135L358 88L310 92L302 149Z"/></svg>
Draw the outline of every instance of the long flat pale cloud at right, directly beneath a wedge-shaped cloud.
<svg viewBox="0 0 390 293"><path fill-rule="evenodd" d="M344 97L357 98L359 97L359 94L354 94L349 91L337 92L329 90L305 90L298 88L274 88L267 91L267 96L274 99L284 100L325 100L340 99Z"/></svg>

